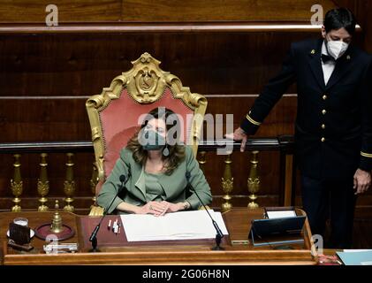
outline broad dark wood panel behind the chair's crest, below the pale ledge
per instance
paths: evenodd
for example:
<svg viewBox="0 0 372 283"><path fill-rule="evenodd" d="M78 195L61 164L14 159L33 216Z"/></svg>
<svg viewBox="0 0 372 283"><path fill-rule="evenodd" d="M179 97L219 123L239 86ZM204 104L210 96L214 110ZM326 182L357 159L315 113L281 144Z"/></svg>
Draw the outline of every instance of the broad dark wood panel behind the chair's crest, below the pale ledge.
<svg viewBox="0 0 372 283"><path fill-rule="evenodd" d="M318 34L2 35L0 95L92 96L146 51L198 93L254 94L307 36Z"/></svg>

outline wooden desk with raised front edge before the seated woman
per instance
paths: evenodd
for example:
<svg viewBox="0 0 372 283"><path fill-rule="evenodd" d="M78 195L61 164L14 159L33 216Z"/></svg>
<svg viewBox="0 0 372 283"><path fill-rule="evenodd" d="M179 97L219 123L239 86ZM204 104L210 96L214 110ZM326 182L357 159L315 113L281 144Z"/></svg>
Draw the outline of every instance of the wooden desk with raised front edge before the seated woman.
<svg viewBox="0 0 372 283"><path fill-rule="evenodd" d="M298 210L300 214L304 212ZM42 250L45 241L33 238L34 249L19 252L7 247L6 231L13 218L26 217L29 226L35 228L50 222L53 212L4 212L0 214L0 241L3 243L2 264L316 264L310 252L311 233L306 222L304 244L292 245L293 249L278 250L270 246L254 248L252 244L232 244L233 241L247 240L250 223L254 218L262 218L263 210L233 209L224 213L224 220L230 236L224 240L224 250L212 251L214 240L205 241L167 241L133 243L119 234L118 241L103 236L108 233L104 219L98 233L100 253L89 253L87 238L91 227L99 218L78 216L61 212L66 225L75 229L75 235L63 242L79 243L79 252L74 254L46 255ZM109 218L117 218L110 216ZM87 225L88 224L88 225ZM120 239L120 237L122 237ZM116 243L115 243L116 242Z"/></svg>

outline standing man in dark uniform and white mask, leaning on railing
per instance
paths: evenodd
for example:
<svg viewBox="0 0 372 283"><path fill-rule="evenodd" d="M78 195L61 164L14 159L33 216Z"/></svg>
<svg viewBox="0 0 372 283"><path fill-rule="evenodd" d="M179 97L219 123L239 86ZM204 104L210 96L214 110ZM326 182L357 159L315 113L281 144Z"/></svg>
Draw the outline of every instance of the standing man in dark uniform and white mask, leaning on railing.
<svg viewBox="0 0 372 283"><path fill-rule="evenodd" d="M329 248L352 245L356 195L368 190L372 170L372 57L351 44L351 11L328 11L323 38L292 43L278 75L263 88L230 137L254 134L286 89L297 82L295 152L302 203L313 234L324 234L330 217Z"/></svg>

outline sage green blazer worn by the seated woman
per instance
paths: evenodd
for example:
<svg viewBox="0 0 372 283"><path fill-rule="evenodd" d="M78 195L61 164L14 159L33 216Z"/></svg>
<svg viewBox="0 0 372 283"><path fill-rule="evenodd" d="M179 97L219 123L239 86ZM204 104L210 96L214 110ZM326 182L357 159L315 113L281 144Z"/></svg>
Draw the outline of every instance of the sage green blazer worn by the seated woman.
<svg viewBox="0 0 372 283"><path fill-rule="evenodd" d="M126 189L121 188L119 180L120 175L128 176L131 172L130 178L126 182ZM159 178L166 198L165 201L170 203L185 202L191 204L192 210L197 210L201 203L194 192L186 194L186 172L190 172L190 183L197 191L198 195L204 204L208 205L212 202L212 195L207 180L203 172L199 168L198 162L194 158L193 150L186 146L186 157L183 162L178 164L178 167L171 173L171 175L163 174ZM129 149L121 149L120 158L118 158L114 169L110 173L105 183L102 186L101 192L98 195L97 203L107 210L113 197L118 195L112 203L108 213L116 209L119 203L131 203L142 206L146 201L146 183L144 178L144 168L133 159L133 153ZM187 195L189 195L187 197Z"/></svg>

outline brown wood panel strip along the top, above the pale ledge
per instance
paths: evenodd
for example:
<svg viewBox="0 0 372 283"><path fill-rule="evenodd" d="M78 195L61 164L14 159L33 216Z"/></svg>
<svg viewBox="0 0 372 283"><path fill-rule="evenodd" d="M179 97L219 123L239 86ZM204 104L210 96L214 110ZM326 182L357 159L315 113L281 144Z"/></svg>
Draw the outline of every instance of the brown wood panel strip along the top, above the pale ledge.
<svg viewBox="0 0 372 283"><path fill-rule="evenodd" d="M44 23L49 0L3 0L0 22ZM190 22L210 20L309 21L312 0L60 0L58 19L66 22ZM324 10L334 4L317 1Z"/></svg>

